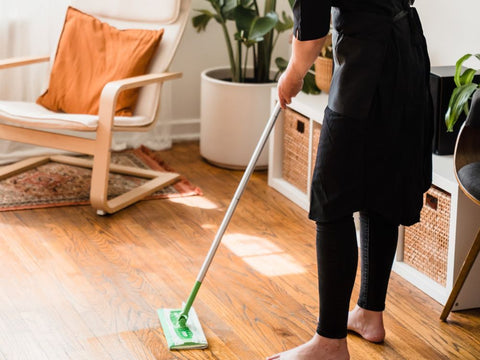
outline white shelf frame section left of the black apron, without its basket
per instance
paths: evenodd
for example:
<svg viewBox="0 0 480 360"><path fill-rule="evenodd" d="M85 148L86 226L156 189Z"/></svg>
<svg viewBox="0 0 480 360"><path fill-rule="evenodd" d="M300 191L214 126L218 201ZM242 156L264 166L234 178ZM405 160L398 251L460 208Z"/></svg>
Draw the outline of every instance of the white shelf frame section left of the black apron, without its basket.
<svg viewBox="0 0 480 360"><path fill-rule="evenodd" d="M277 101L276 89L272 89L272 109ZM327 106L328 95L306 95L304 93L298 94L292 99L291 104L288 107L309 119L310 126L310 141L308 151L308 173L307 176L307 192L303 192L298 189L282 177L282 160L283 160L283 112L280 113L275 127L270 135L270 149L269 149L269 161L268 161L268 185L285 195L288 199L296 203L304 210L308 210L311 183L311 169L312 169L312 137L313 137L313 123L317 122L322 124L323 113Z"/></svg>

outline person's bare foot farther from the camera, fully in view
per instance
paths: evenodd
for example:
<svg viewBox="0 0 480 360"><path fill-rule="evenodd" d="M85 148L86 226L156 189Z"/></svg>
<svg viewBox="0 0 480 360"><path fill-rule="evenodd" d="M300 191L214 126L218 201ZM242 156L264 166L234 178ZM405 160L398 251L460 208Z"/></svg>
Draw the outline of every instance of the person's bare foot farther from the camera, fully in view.
<svg viewBox="0 0 480 360"><path fill-rule="evenodd" d="M382 311L366 310L356 305L348 314L347 328L374 343L385 340Z"/></svg>

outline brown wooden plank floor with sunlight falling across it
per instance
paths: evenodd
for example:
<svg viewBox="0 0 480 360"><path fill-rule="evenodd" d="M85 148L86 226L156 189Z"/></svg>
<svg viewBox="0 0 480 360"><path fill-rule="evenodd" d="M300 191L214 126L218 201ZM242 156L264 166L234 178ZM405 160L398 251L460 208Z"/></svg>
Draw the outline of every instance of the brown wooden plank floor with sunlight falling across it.
<svg viewBox="0 0 480 360"><path fill-rule="evenodd" d="M162 157L204 196L0 213L0 360L251 360L310 339L314 225L255 173L200 289L208 350L169 352L157 308L186 300L242 172L196 143ZM355 286L352 305L358 294ZM352 359L480 359L480 311L453 313L393 274L384 344L349 335Z"/></svg>

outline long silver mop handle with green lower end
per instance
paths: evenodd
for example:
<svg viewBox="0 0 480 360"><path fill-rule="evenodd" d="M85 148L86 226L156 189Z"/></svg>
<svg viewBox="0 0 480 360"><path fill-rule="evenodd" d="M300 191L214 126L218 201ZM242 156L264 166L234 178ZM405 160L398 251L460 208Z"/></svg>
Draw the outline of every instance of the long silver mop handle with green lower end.
<svg viewBox="0 0 480 360"><path fill-rule="evenodd" d="M270 118L268 119L267 125L265 125L265 129L263 130L262 136L260 137L260 140L257 143L257 146L255 148L255 151L252 154L252 157L250 159L250 162L247 165L247 168L243 174L242 180L240 180L240 183L237 187L237 191L235 191L235 194L233 195L233 199L230 202L230 205L228 206L227 212L225 213L225 216L223 217L223 221L220 224L220 227L217 230L217 234L215 235L215 240L213 241L212 245L210 246L210 250L208 251L207 257L205 258L205 261L203 262L202 268L200 269L200 272L198 273L197 276L197 281L193 287L192 292L190 293L190 296L185 303L185 307L183 308L181 316L188 316L188 312L190 311L190 308L193 305L193 301L195 300L195 297L197 296L197 292L200 289L200 285L202 284L203 279L205 278L205 275L208 271L208 268L210 267L210 264L212 263L213 257L215 256L215 253L217 252L218 246L220 245L220 242L222 241L223 234L225 233L225 230L227 229L228 224L230 223L230 219L232 218L232 215L237 207L238 202L240 201L240 197L243 194L243 191L245 190L248 180L250 179L250 176L253 173L253 170L255 168L255 164L257 163L258 158L260 157L260 153L262 152L268 137L270 136L270 133L272 131L273 126L275 125L275 122L277 121L278 115L280 114L280 103L277 103L275 105L275 108L273 109L272 114L270 115Z"/></svg>

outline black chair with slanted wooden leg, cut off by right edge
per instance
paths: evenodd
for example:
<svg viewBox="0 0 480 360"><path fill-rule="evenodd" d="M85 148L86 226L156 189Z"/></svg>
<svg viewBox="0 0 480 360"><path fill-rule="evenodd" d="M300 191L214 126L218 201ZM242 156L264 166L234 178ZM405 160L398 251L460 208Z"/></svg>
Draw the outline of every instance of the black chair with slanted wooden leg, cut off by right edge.
<svg viewBox="0 0 480 360"><path fill-rule="evenodd" d="M470 112L458 134L454 152L455 176L463 193L480 206L480 91L472 98ZM480 225L480 219L479 225ZM465 258L440 319L445 321L480 252L480 228Z"/></svg>

